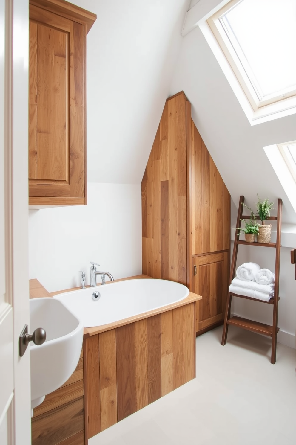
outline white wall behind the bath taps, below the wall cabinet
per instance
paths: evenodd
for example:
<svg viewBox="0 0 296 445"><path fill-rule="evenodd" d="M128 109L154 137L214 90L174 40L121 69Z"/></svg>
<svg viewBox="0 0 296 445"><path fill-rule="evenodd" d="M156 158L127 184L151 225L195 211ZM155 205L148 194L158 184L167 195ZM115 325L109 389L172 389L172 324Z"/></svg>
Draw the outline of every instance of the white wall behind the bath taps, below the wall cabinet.
<svg viewBox="0 0 296 445"><path fill-rule="evenodd" d="M87 206L29 210L29 278L50 292L80 286L79 271L90 284L90 261L114 279L142 273L141 186L87 187Z"/></svg>

